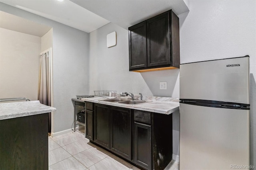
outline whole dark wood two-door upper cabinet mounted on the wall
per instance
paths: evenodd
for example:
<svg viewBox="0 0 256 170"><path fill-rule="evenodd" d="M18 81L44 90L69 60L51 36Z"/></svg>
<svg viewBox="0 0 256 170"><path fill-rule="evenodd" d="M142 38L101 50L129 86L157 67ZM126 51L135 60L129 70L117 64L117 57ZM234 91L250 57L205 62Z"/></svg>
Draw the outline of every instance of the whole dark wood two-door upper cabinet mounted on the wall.
<svg viewBox="0 0 256 170"><path fill-rule="evenodd" d="M130 71L180 68L179 18L172 10L128 30Z"/></svg>

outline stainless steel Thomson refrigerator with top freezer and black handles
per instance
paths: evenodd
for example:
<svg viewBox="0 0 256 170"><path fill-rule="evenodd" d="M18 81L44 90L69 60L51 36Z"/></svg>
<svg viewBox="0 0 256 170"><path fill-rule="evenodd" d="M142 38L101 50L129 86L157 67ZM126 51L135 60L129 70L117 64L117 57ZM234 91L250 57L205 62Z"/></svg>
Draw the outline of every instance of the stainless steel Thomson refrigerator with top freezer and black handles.
<svg viewBox="0 0 256 170"><path fill-rule="evenodd" d="M180 170L249 166L249 56L180 65Z"/></svg>

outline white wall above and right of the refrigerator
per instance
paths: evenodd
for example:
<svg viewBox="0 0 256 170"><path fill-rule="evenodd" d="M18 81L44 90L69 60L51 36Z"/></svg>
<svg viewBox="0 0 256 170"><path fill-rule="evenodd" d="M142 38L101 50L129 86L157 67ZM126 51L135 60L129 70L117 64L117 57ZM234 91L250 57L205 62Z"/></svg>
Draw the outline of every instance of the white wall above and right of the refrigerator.
<svg viewBox="0 0 256 170"><path fill-rule="evenodd" d="M189 7L178 16L181 63L250 55L250 164L256 166L256 1L190 0Z"/></svg>

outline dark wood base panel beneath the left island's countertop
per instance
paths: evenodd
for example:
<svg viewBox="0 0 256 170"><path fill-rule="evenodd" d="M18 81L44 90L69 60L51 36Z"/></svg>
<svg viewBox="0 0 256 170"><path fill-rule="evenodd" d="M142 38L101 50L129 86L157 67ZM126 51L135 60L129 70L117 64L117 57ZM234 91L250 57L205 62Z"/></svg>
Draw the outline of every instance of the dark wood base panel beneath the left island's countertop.
<svg viewBox="0 0 256 170"><path fill-rule="evenodd" d="M48 113L0 120L0 169L48 169Z"/></svg>

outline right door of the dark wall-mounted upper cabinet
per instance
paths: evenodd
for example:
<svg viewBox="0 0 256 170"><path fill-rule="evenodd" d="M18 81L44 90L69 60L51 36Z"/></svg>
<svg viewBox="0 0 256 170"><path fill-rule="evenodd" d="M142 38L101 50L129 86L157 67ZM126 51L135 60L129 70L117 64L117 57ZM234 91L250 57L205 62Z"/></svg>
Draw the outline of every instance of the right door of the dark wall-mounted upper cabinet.
<svg viewBox="0 0 256 170"><path fill-rule="evenodd" d="M147 20L148 67L169 65L169 12Z"/></svg>

